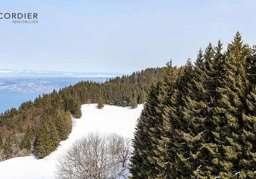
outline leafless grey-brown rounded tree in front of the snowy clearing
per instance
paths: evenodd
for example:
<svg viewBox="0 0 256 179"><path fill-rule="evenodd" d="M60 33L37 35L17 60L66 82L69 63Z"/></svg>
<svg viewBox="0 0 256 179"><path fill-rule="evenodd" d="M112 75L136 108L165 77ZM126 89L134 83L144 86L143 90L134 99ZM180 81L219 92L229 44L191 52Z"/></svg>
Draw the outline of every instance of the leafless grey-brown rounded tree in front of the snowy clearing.
<svg viewBox="0 0 256 179"><path fill-rule="evenodd" d="M129 174L131 139L89 133L58 158L57 178L118 179Z"/></svg>

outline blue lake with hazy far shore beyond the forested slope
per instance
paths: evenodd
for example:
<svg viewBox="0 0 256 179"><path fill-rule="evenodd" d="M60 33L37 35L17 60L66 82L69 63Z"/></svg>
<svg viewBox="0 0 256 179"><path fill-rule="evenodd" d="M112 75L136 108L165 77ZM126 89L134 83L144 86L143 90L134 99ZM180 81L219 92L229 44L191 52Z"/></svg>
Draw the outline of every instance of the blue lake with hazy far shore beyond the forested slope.
<svg viewBox="0 0 256 179"><path fill-rule="evenodd" d="M79 81L104 82L107 78L26 78L0 79L0 113L11 107L18 108L25 101L38 95L50 93L53 89L73 85Z"/></svg>

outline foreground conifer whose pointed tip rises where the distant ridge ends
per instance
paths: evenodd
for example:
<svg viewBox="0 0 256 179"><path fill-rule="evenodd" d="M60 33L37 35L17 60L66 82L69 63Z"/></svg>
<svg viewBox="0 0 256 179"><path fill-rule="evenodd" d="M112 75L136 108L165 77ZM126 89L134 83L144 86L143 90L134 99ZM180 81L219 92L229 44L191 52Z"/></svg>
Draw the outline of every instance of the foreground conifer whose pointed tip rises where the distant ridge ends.
<svg viewBox="0 0 256 179"><path fill-rule="evenodd" d="M160 138L157 140L155 154L158 156L158 178L174 178L179 175L175 169L176 154L173 150L175 129L178 128L178 91L176 88L177 73L174 72L172 61L167 63L165 75L161 81L159 92L159 113L162 123L159 125Z"/></svg>

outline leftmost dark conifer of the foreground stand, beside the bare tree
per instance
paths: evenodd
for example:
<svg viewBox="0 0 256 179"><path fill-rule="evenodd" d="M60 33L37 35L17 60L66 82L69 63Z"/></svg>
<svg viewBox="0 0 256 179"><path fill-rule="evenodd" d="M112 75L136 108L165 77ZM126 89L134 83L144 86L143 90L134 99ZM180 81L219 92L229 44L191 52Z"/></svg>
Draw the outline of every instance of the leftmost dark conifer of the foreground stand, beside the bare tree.
<svg viewBox="0 0 256 179"><path fill-rule="evenodd" d="M154 158L153 141L157 133L157 101L159 93L159 83L152 84L144 109L136 125L135 138L133 140L134 154L132 156L131 178L155 178L157 171L155 168L156 161ZM151 131L150 131L151 130ZM154 133L154 134L153 134Z"/></svg>

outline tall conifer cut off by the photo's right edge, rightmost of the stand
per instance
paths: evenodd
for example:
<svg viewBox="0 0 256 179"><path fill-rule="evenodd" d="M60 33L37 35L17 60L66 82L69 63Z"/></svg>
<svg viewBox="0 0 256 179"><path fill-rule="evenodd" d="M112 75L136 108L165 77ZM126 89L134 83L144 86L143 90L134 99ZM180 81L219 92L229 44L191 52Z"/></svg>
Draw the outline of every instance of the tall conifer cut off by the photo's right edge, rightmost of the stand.
<svg viewBox="0 0 256 179"><path fill-rule="evenodd" d="M256 177L256 46L252 47L251 56L247 58L247 78L249 81L249 93L246 97L243 111L243 152L240 164L242 167L241 178Z"/></svg>

